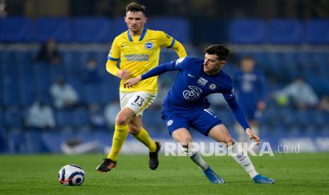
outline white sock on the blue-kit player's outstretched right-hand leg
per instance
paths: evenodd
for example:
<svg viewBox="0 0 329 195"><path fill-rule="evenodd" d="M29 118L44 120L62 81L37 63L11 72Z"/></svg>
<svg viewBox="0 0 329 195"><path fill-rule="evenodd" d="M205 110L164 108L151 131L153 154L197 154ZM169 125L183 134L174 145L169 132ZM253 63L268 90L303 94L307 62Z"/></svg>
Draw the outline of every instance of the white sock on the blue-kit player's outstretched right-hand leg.
<svg viewBox="0 0 329 195"><path fill-rule="evenodd" d="M244 153L243 148L239 144L234 143L232 146L229 146L227 150L231 153L232 158L236 160L246 172L248 172L251 179L258 175L258 172L256 172L255 167L253 166L253 162L251 162L248 157L248 153Z"/></svg>

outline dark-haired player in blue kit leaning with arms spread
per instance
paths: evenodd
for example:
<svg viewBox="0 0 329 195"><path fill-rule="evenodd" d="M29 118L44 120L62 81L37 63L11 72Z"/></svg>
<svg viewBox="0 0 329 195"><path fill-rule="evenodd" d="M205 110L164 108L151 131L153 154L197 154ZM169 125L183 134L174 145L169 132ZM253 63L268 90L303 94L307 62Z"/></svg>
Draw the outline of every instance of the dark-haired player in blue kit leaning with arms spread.
<svg viewBox="0 0 329 195"><path fill-rule="evenodd" d="M248 154L243 153L242 147L233 140L219 117L208 110L210 104L207 95L222 93L238 123L259 146L260 138L250 129L245 114L236 102L231 78L221 70L226 64L229 49L224 45L210 45L204 49L204 52L204 59L185 57L161 64L142 76L130 78L124 85L130 88L139 81L166 71L178 71L171 90L163 100L162 119L168 126L169 134L182 145L187 154L190 154L190 159L201 168L209 182L223 184L224 179L202 159L200 151L191 151L190 127L204 136L210 136L215 141L224 143L233 159L248 172L255 183L274 183L275 179L258 174Z"/></svg>

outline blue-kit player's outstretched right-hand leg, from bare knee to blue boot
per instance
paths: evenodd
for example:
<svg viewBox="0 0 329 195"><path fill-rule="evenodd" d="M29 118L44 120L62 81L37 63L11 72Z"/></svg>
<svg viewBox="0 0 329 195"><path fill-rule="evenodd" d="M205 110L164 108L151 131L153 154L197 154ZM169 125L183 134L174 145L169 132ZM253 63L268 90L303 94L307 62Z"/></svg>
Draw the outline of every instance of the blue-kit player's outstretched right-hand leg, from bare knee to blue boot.
<svg viewBox="0 0 329 195"><path fill-rule="evenodd" d="M272 184L275 182L275 180L272 178L263 177L258 174L258 172L255 170L253 162L251 162L248 156L248 153L244 153L243 148L233 140L224 124L218 124L217 126L214 126L209 131L209 136L214 138L216 141L224 143L229 153L231 153L233 159L236 160L236 162L238 162L238 164L241 165L241 167L243 167L246 172L248 172L250 177L256 183Z"/></svg>

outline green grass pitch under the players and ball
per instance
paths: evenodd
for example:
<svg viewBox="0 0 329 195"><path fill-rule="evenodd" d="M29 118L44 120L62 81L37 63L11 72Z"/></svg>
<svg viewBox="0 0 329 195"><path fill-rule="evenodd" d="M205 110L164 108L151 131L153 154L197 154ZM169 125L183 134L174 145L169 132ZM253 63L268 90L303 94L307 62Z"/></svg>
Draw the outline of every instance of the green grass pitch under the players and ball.
<svg viewBox="0 0 329 195"><path fill-rule="evenodd" d="M255 184L231 157L204 157L226 184L210 184L187 157L161 155L149 170L146 155L120 155L115 170L96 172L104 155L0 155L0 194L328 194L329 154L253 157L256 170L276 179ZM57 172L67 164L86 172L80 187L64 187Z"/></svg>

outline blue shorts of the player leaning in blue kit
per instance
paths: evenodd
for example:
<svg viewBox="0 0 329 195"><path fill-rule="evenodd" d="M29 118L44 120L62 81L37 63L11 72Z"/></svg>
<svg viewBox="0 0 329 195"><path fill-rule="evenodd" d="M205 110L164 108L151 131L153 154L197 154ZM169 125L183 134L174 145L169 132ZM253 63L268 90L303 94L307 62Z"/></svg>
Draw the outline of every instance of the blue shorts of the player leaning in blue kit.
<svg viewBox="0 0 329 195"><path fill-rule="evenodd" d="M208 136L212 127L222 124L214 113L201 107L191 110L162 110L161 114L171 136L176 129L190 130L190 127Z"/></svg>

